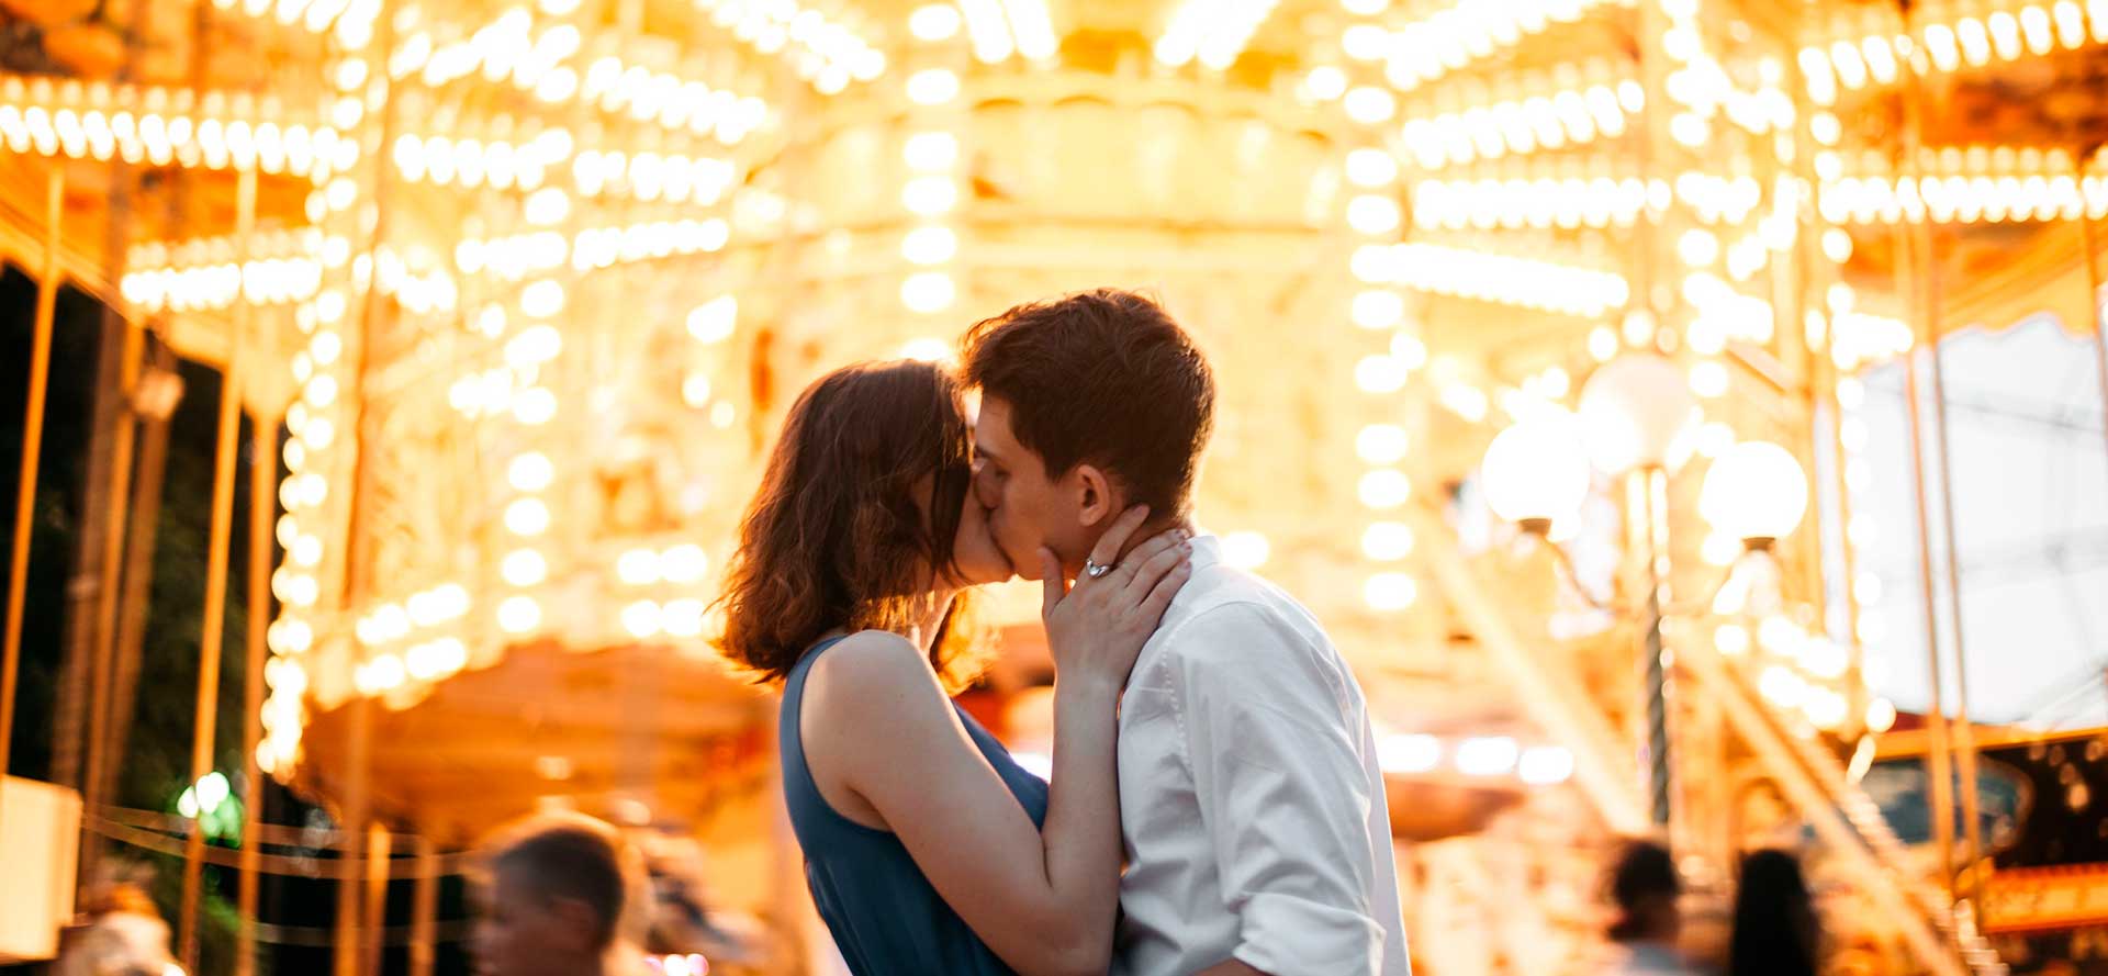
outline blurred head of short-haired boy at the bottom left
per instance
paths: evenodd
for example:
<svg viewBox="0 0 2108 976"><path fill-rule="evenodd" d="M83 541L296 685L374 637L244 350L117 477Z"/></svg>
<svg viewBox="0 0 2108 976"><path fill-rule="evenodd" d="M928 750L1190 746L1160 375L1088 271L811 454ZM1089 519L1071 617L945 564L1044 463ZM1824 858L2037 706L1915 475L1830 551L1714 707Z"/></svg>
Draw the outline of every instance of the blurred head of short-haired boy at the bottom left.
<svg viewBox="0 0 2108 976"><path fill-rule="evenodd" d="M476 976L603 976L637 877L622 835L588 816L500 828L483 854Z"/></svg>

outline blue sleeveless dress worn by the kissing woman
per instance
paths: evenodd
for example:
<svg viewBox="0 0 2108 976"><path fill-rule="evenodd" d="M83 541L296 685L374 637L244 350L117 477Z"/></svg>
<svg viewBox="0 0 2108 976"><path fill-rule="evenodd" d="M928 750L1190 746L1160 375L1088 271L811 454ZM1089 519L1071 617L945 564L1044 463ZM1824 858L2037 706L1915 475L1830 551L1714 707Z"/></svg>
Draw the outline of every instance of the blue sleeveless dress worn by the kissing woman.
<svg viewBox="0 0 2108 976"><path fill-rule="evenodd" d="M814 784L799 738L799 704L812 662L839 641L835 637L814 645L790 668L778 715L784 803L790 807L797 843L805 850L805 883L826 930L835 934L835 946L856 976L1008 976L1012 970L944 904L898 837L837 814ZM957 704L953 708L980 755L1018 797L1018 805L1031 814L1033 824L1043 826L1046 780L1010 759L1010 750L972 715Z"/></svg>

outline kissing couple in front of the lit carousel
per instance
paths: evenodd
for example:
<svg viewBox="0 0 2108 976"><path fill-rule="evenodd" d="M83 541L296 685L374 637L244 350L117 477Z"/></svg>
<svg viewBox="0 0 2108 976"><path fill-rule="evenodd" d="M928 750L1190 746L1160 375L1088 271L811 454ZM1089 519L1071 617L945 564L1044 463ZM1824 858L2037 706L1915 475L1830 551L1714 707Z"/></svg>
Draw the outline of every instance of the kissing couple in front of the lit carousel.
<svg viewBox="0 0 2108 976"><path fill-rule="evenodd" d="M1408 976L1368 706L1193 525L1212 426L1193 337L1113 289L974 325L959 375L854 365L790 407L723 651L782 685L784 801L858 976ZM1012 575L1046 588L1050 780L951 700L955 613Z"/></svg>

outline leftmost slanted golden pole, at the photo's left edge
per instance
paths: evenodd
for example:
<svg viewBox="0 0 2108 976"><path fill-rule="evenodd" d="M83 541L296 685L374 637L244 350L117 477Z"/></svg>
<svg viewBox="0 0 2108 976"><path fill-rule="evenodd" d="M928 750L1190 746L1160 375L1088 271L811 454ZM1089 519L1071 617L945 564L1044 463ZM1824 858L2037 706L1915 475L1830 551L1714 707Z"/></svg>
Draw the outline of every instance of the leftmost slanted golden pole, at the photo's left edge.
<svg viewBox="0 0 2108 976"><path fill-rule="evenodd" d="M59 217L65 211L65 167L44 181L44 272L36 280L36 337L30 344L30 405L21 422L21 479L15 487L15 548L6 578L6 649L0 651L0 790L15 748L15 675L21 666L21 613L30 584L30 529L36 523L36 466L44 449L44 390L51 373L51 320L59 301ZM4 807L4 803L0 803Z"/></svg>

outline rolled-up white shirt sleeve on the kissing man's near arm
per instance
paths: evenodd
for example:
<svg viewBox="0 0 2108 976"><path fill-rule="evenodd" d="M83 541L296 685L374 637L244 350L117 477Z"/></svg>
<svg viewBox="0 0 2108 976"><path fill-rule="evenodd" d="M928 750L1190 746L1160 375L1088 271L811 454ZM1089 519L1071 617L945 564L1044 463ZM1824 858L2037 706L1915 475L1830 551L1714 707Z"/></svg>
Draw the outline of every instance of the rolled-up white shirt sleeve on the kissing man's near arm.
<svg viewBox="0 0 2108 976"><path fill-rule="evenodd" d="M1178 632L1172 683L1202 826L1237 915L1235 957L1273 976L1374 974L1370 782L1360 698L1280 616L1212 607Z"/></svg>

